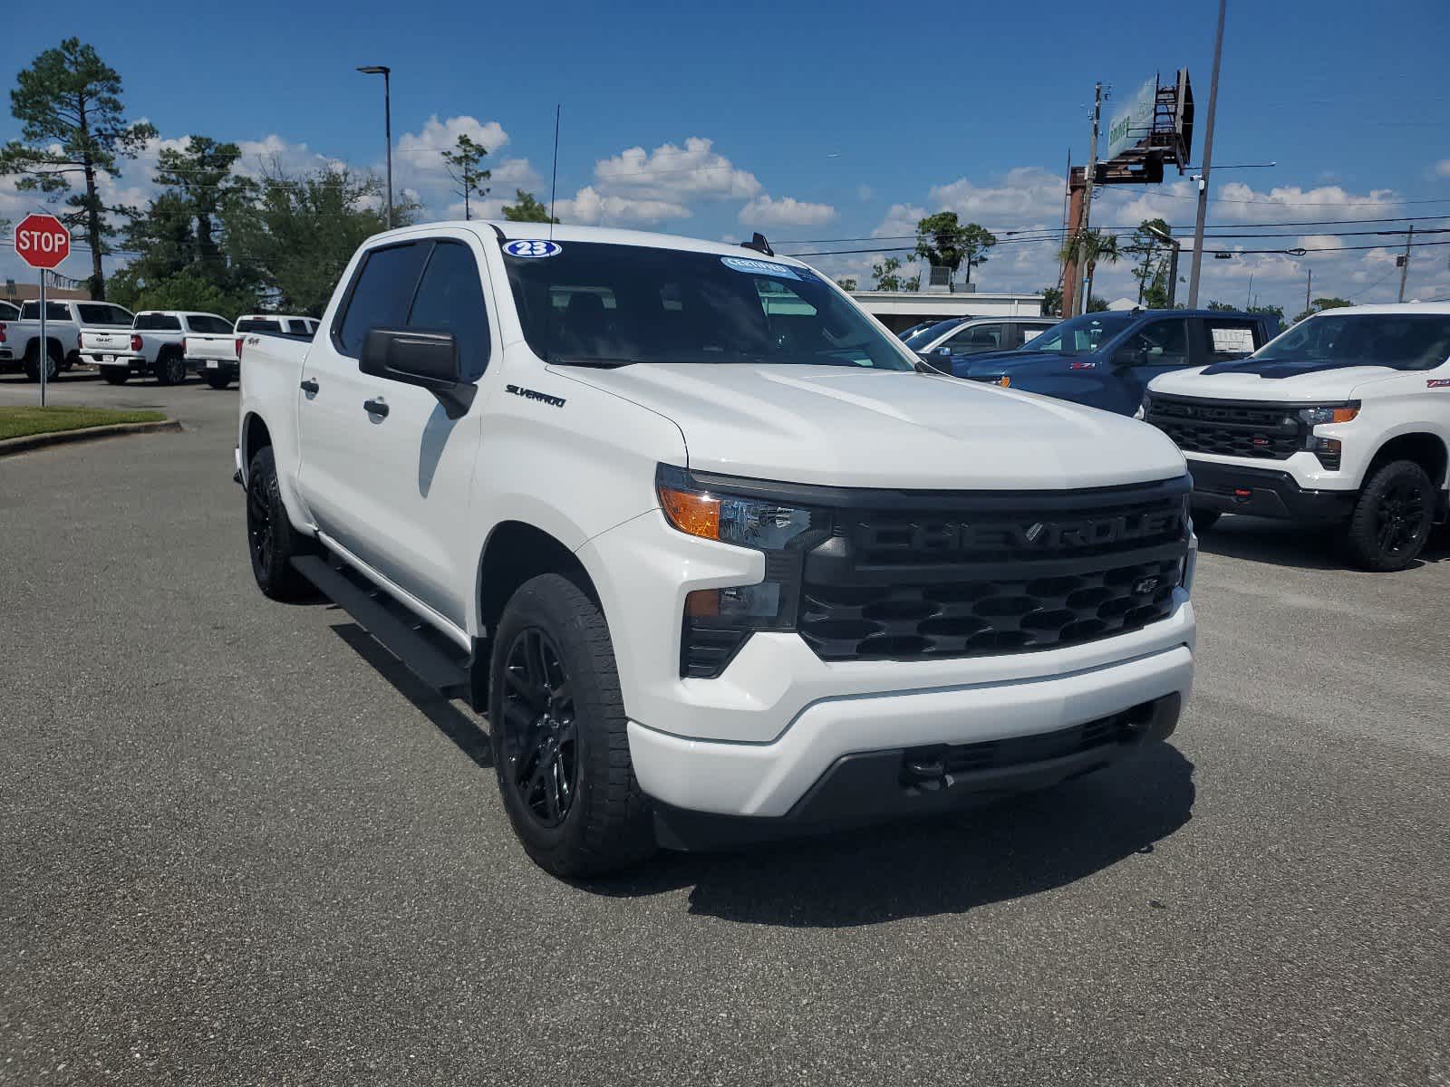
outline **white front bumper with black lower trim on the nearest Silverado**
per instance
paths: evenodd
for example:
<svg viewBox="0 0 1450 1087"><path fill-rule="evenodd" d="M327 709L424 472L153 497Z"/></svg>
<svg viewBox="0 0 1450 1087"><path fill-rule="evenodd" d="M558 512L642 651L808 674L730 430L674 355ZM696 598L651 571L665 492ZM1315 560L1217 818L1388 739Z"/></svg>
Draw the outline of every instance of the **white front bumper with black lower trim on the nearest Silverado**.
<svg viewBox="0 0 1450 1087"><path fill-rule="evenodd" d="M629 755L639 787L664 809L686 809L805 826L905 816L966 797L1073 777L1116 749L1088 758L1025 759L1009 772L909 787L900 780L914 749L1056 733L1153 706L1140 741L1173 730L1193 684L1193 654L1182 644L1111 665L1034 680L841 694L806 706L768 744L702 741L629 722ZM1132 745L1124 745L1132 746ZM919 757L919 755L918 755ZM1000 767L998 770L1002 770ZM953 801L954 803L954 801Z"/></svg>

